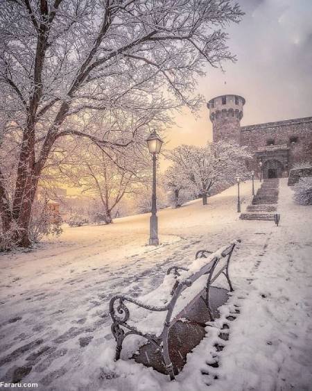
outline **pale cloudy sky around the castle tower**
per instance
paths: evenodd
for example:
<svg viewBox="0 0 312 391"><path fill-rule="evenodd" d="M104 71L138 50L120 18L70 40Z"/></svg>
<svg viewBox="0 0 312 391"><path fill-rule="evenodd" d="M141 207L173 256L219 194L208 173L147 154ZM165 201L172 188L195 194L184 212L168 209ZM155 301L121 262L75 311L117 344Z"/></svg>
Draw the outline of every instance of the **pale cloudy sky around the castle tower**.
<svg viewBox="0 0 312 391"><path fill-rule="evenodd" d="M236 63L207 67L198 83L206 101L220 94L246 99L241 125L312 116L312 0L238 0L243 20L227 29ZM225 84L226 83L226 84ZM208 110L185 110L166 134L167 147L212 138Z"/></svg>

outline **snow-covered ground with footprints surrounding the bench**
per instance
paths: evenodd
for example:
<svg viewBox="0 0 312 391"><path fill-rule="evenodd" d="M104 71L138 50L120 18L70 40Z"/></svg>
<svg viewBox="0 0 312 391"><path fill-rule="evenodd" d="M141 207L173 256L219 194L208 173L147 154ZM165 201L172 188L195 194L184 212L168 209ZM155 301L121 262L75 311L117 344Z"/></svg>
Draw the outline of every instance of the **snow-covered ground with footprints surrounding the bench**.
<svg viewBox="0 0 312 391"><path fill-rule="evenodd" d="M250 187L241 185L242 211ZM0 381L24 375L37 390L58 391L312 390L312 208L293 203L286 180L279 188L279 227L239 220L234 187L208 206L160 212L157 248L145 245L148 216L140 215L67 228L35 251L0 256ZM127 360L131 341L114 363L110 297L146 294L171 265L233 238L243 240L230 271L235 292L177 380ZM229 340L216 352L224 323ZM207 365L216 359L218 368Z"/></svg>

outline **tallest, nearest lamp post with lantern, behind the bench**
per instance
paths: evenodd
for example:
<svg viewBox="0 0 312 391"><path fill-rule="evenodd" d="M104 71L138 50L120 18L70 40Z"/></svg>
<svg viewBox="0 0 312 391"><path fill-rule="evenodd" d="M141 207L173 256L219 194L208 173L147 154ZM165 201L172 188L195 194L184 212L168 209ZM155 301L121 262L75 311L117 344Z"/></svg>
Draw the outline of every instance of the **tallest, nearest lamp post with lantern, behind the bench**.
<svg viewBox="0 0 312 391"><path fill-rule="evenodd" d="M156 131L150 133L146 140L148 144L148 151L152 154L153 158L153 193L152 193L152 215L150 216L150 240L149 244L157 246L159 244L158 239L158 218L157 218L157 206L156 206L156 159L157 154L162 148L162 139L157 135Z"/></svg>

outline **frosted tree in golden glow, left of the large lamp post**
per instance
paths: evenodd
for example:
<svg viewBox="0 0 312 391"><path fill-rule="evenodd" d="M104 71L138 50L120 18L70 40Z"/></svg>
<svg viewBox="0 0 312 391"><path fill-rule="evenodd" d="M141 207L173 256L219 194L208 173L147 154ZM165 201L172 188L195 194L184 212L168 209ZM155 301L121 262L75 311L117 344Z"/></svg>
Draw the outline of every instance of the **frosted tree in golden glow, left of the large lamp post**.
<svg viewBox="0 0 312 391"><path fill-rule="evenodd" d="M89 198L100 205L98 216L106 224L112 223L113 213L127 194L132 194L149 178L146 171L146 156L133 156L131 147L123 152L114 151L107 156L105 151L93 144L80 143L80 149L60 163L60 172ZM97 201L97 202L96 202Z"/></svg>

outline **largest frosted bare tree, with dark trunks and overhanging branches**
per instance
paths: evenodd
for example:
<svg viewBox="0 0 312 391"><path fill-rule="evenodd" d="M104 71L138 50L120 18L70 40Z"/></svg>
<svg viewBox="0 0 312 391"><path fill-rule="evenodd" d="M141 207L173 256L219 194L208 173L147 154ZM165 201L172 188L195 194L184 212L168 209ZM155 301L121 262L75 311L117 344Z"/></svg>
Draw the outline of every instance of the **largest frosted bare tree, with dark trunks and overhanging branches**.
<svg viewBox="0 0 312 391"><path fill-rule="evenodd" d="M196 76L234 59L222 28L241 15L231 0L0 1L3 231L14 225L30 244L38 181L61 139L108 153L139 145L166 110L196 108Z"/></svg>

